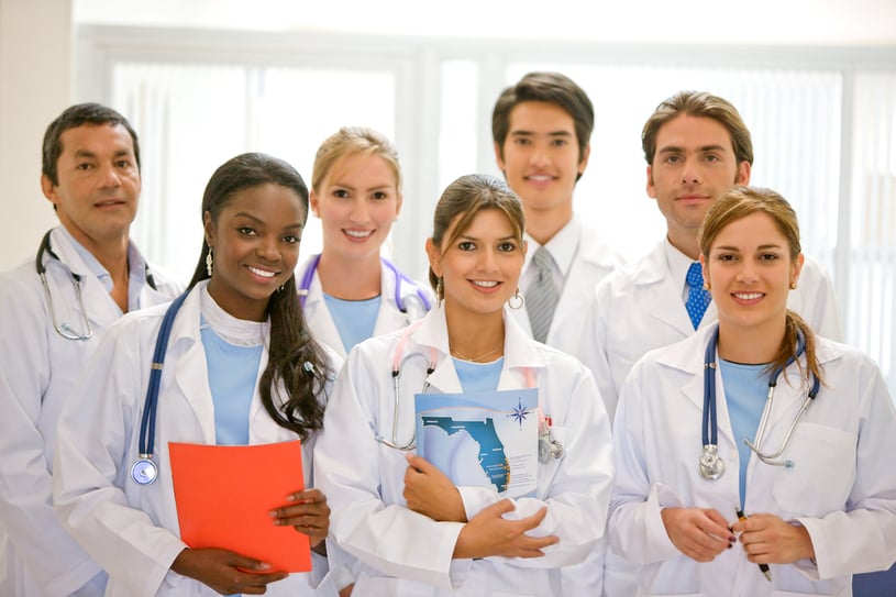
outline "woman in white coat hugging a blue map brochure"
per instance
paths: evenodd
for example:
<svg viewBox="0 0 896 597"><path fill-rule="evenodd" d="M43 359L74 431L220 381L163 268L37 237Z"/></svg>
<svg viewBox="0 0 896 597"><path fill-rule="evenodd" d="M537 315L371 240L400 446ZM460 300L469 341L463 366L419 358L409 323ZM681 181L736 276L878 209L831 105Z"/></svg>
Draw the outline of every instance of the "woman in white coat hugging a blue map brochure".
<svg viewBox="0 0 896 597"><path fill-rule="evenodd" d="M523 300L523 224L504 181L452 183L427 241L440 305L349 354L314 457L331 562L347 559L356 595L560 596L560 567L602 538L611 442L594 378L506 313ZM418 394L456 408L418 416ZM416 453L439 434L451 478Z"/></svg>

